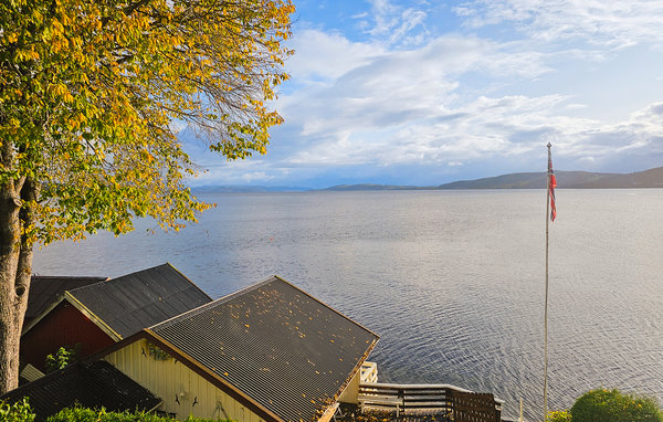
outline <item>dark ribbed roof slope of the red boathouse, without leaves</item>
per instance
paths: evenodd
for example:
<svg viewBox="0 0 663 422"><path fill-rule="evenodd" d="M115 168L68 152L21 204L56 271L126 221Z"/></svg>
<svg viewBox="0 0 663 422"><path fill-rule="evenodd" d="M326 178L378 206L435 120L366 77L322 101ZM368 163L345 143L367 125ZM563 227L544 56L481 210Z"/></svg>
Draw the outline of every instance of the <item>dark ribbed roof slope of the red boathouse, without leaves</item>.
<svg viewBox="0 0 663 422"><path fill-rule="evenodd" d="M122 337L212 300L170 264L69 293Z"/></svg>

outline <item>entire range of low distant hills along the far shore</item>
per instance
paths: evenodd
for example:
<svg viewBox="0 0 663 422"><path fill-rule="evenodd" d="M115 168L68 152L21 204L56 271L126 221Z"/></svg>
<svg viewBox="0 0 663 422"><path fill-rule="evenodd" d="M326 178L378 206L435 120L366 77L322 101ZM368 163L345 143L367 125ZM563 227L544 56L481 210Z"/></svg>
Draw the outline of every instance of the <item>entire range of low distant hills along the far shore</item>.
<svg viewBox="0 0 663 422"><path fill-rule="evenodd" d="M663 167L632 173L589 171L555 171L558 189L630 189L663 188ZM397 184L338 184L324 191L360 190L453 190L453 189L545 189L546 172L502 175L476 180L460 180L440 186L417 187ZM201 187L198 192L302 192L316 189L293 187L221 186Z"/></svg>

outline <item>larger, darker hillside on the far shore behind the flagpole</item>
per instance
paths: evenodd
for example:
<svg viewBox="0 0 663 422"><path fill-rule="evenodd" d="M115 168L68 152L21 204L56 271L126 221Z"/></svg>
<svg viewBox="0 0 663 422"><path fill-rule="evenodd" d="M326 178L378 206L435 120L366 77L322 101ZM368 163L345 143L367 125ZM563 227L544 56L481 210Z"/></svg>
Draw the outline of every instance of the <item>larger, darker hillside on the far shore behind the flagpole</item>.
<svg viewBox="0 0 663 422"><path fill-rule="evenodd" d="M663 167L633 173L555 171L560 189L663 188ZM511 173L441 184L438 189L545 189L546 172Z"/></svg>

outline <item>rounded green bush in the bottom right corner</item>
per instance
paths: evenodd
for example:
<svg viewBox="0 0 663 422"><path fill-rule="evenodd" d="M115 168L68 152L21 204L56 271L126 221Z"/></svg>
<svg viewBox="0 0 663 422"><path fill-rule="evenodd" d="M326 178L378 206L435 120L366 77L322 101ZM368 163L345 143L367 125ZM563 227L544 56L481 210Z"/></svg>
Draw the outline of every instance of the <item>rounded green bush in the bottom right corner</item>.
<svg viewBox="0 0 663 422"><path fill-rule="evenodd" d="M578 398L571 418L573 422L663 422L663 412L652 399L600 389Z"/></svg>

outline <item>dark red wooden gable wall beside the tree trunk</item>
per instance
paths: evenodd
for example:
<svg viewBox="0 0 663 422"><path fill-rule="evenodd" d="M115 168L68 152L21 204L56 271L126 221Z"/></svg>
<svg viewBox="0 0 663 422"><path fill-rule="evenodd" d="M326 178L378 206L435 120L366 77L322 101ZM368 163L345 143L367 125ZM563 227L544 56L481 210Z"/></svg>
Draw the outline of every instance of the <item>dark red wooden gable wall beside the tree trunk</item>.
<svg viewBox="0 0 663 422"><path fill-rule="evenodd" d="M21 361L45 370L46 355L62 347L81 345L81 356L87 357L115 341L66 300L60 303L30 331L21 337Z"/></svg>

